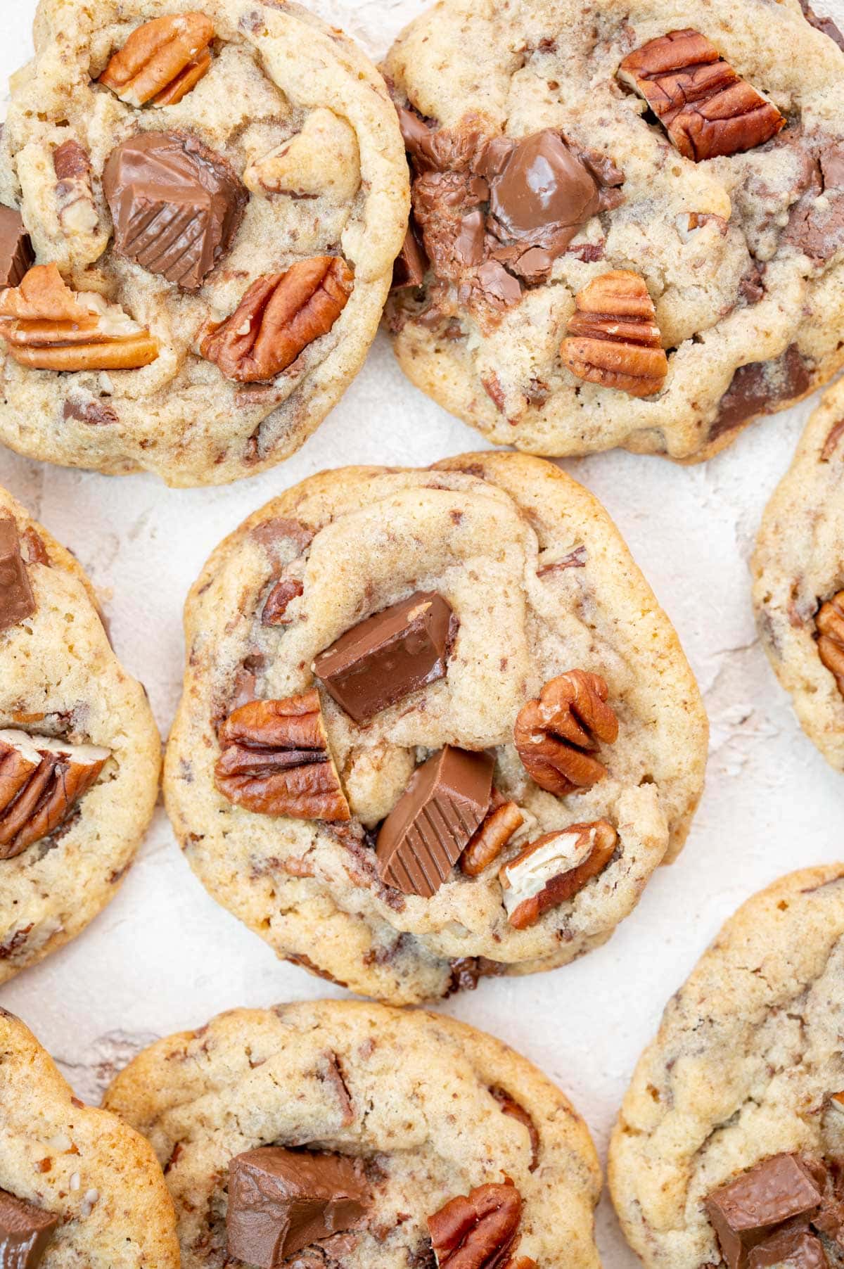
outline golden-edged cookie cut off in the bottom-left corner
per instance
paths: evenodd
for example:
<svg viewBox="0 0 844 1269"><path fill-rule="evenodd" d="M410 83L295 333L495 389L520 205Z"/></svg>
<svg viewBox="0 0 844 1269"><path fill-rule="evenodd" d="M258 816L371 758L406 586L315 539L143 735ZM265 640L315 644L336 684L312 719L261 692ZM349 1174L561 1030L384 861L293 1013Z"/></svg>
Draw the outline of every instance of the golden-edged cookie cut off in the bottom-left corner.
<svg viewBox="0 0 844 1269"><path fill-rule="evenodd" d="M5 1009L0 1085L4 1263L178 1269L175 1213L150 1143L75 1098L32 1032Z"/></svg>

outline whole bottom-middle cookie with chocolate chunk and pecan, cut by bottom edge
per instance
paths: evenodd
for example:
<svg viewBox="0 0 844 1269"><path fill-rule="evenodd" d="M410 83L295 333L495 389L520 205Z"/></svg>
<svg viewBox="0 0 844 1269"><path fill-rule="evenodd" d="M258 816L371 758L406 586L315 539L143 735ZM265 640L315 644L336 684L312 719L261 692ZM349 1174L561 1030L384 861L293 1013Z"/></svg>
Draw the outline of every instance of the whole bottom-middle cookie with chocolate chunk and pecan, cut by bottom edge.
<svg viewBox="0 0 844 1269"><path fill-rule="evenodd" d="M105 1105L150 1138L183 1269L599 1269L589 1132L534 1066L449 1018L237 1009L162 1039Z"/></svg>

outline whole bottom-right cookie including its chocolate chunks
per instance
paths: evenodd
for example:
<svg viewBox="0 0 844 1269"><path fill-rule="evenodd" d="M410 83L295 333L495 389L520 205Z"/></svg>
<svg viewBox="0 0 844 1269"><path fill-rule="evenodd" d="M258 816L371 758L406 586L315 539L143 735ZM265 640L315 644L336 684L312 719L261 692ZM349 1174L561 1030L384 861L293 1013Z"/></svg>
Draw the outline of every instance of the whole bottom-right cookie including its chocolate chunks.
<svg viewBox="0 0 844 1269"><path fill-rule="evenodd" d="M646 1269L833 1269L844 1253L844 865L754 896L671 999L609 1152Z"/></svg>

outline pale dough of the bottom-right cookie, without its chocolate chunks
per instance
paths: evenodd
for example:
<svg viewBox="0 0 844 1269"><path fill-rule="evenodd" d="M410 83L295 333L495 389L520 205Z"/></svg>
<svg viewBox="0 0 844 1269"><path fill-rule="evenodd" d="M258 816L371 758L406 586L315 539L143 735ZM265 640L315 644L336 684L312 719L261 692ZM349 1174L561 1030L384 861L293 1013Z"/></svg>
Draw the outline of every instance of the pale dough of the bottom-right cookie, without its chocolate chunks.
<svg viewBox="0 0 844 1269"><path fill-rule="evenodd" d="M828 864L739 909L640 1060L609 1180L646 1269L720 1264L703 1198L769 1155L824 1154L843 1022L844 865Z"/></svg>

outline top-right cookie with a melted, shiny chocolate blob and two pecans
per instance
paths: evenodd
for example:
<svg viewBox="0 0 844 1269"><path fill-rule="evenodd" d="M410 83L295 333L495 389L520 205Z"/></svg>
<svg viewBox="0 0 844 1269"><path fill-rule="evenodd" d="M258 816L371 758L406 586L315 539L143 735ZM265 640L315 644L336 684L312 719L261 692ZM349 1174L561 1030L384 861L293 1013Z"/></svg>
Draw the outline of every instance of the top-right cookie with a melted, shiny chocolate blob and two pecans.
<svg viewBox="0 0 844 1269"><path fill-rule="evenodd" d="M498 444L679 461L829 379L835 36L797 0L444 0L411 23L386 62L406 374Z"/></svg>

